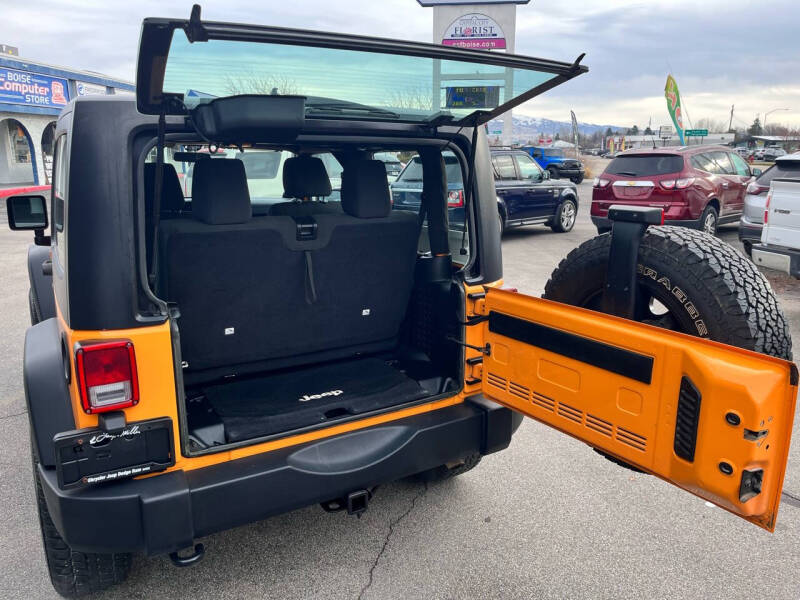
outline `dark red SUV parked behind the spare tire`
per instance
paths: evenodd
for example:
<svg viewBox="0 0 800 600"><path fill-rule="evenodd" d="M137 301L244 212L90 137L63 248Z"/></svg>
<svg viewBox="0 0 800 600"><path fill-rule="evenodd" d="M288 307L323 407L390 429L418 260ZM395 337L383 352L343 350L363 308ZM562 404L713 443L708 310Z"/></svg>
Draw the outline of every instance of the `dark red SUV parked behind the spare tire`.
<svg viewBox="0 0 800 600"><path fill-rule="evenodd" d="M657 206L664 222L715 233L739 220L753 173L738 154L722 146L629 150L617 155L592 190L592 223L611 229L612 204Z"/></svg>

